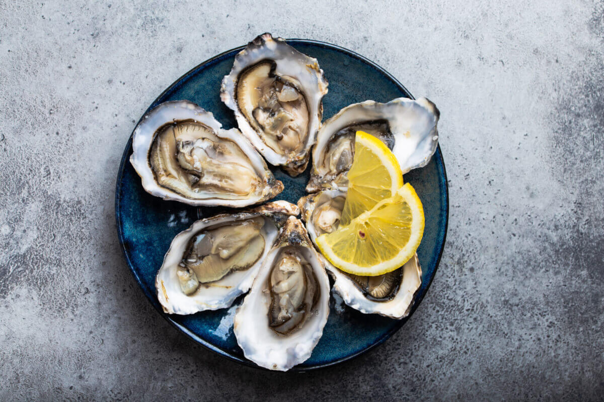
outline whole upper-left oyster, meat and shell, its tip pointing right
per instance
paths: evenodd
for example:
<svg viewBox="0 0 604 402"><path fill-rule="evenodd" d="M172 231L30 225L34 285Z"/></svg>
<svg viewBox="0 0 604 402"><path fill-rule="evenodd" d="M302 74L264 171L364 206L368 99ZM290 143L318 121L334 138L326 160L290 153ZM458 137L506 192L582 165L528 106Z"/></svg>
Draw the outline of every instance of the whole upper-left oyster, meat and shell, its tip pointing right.
<svg viewBox="0 0 604 402"><path fill-rule="evenodd" d="M274 197L283 183L237 130L189 101L165 102L137 125L130 163L144 189L194 206L243 207Z"/></svg>

